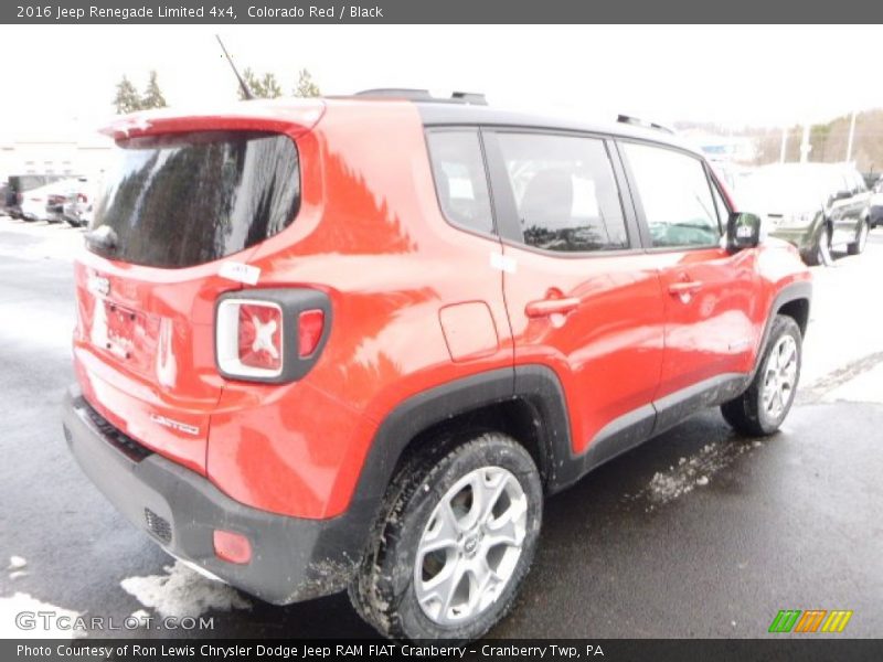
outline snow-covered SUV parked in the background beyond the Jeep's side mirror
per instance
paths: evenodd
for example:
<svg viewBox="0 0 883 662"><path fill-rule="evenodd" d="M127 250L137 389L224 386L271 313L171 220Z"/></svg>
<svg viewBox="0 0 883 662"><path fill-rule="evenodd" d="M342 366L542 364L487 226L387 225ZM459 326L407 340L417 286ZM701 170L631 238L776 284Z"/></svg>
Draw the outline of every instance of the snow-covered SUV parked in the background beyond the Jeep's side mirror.
<svg viewBox="0 0 883 662"><path fill-rule="evenodd" d="M830 264L831 250L864 250L871 193L854 168L779 163L758 168L737 190L744 209L763 215L764 229L797 246L808 265Z"/></svg>

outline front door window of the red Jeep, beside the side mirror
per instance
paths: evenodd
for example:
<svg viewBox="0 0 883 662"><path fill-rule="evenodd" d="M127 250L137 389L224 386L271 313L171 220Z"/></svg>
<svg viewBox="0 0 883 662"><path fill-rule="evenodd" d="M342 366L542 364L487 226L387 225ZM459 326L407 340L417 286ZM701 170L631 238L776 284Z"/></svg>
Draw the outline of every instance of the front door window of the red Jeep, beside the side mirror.
<svg viewBox="0 0 883 662"><path fill-rule="evenodd" d="M721 238L702 161L671 149L624 143L653 246L713 246Z"/></svg>

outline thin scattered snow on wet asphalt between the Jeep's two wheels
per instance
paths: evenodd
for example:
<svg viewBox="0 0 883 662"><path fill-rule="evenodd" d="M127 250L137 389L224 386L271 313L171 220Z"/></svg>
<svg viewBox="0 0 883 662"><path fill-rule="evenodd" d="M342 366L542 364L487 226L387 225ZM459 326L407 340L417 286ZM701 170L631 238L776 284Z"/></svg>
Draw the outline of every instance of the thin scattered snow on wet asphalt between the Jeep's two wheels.
<svg viewBox="0 0 883 662"><path fill-rule="evenodd" d="M650 483L635 499L647 498L652 510L689 494L696 487L705 487L712 477L731 465L738 456L763 446L760 441L748 444L706 444L699 452L681 458L677 467L668 471L657 471Z"/></svg>

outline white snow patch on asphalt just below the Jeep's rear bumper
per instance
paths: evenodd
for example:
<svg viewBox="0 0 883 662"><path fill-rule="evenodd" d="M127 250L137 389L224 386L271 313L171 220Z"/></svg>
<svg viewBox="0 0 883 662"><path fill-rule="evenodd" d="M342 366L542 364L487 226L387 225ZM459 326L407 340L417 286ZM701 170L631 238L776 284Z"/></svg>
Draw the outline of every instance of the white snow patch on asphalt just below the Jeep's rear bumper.
<svg viewBox="0 0 883 662"><path fill-rule="evenodd" d="M162 618L196 618L210 609L230 611L252 607L234 588L203 577L180 560L162 569L166 575L128 577L119 584L126 592Z"/></svg>

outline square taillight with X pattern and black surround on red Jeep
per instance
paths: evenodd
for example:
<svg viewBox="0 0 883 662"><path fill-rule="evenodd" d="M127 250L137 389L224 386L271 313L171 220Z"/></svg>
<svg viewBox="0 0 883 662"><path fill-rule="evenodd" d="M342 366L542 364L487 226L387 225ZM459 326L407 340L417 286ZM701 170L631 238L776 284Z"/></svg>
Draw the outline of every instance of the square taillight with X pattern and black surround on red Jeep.
<svg viewBox="0 0 883 662"><path fill-rule="evenodd" d="M330 316L328 296L308 288L224 295L215 317L217 367L233 380L299 380L321 354Z"/></svg>

